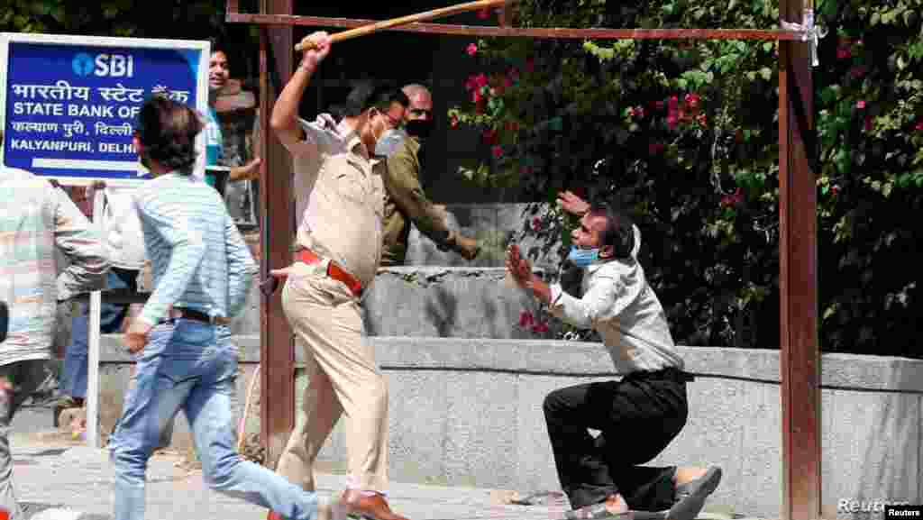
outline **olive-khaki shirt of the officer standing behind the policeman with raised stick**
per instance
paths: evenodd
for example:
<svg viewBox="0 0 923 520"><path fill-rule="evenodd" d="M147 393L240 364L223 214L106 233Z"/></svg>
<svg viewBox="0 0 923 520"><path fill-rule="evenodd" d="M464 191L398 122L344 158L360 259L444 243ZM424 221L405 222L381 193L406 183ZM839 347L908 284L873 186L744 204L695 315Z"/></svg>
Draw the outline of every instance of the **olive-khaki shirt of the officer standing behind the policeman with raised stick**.
<svg viewBox="0 0 923 520"><path fill-rule="evenodd" d="M382 265L400 265L407 255L410 224L442 248L450 236L446 214L426 198L420 185L420 142L404 139L400 148L388 158L385 174L385 223Z"/></svg>

